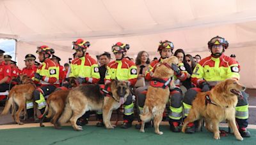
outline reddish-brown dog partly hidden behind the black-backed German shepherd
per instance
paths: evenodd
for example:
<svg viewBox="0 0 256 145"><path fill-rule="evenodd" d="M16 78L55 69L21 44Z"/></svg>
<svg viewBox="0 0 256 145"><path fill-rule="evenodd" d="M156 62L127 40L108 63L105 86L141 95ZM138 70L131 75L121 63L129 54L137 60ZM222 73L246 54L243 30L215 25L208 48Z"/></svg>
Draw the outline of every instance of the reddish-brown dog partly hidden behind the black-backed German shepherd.
<svg viewBox="0 0 256 145"><path fill-rule="evenodd" d="M74 77L68 78L67 81L71 88L75 88L76 86L78 86L78 84L76 83L76 78ZM55 128L58 128L56 121L58 120L58 118L60 118L60 115L64 110L69 91L70 90L67 90L67 88L62 90L57 88L54 92L51 93L51 95L49 95L46 100L47 104L43 117L40 120L40 127L44 127L43 121L46 117L52 118L51 123L54 125ZM46 114L47 116L45 116Z"/></svg>

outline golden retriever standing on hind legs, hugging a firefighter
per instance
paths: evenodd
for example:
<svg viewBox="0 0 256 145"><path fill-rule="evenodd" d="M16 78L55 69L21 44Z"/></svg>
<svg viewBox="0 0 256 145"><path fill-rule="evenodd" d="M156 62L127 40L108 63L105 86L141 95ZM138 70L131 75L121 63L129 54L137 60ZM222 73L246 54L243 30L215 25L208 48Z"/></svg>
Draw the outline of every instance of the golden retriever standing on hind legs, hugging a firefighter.
<svg viewBox="0 0 256 145"><path fill-rule="evenodd" d="M161 64L158 64L152 78L157 79L168 79L166 83L168 85L173 86L172 76L173 70L171 68L172 64L178 64L179 60L177 57L170 57L168 59L164 59ZM146 95L145 105L143 107L143 113L140 114L141 118L141 128L140 132L145 132L144 127L145 123L154 119L154 127L156 134L163 134L163 132L159 131L159 124L163 119L163 112L166 107L166 103L170 97L170 88L166 86L163 87L155 87L152 86L151 83L156 83L156 81L151 81L150 86L148 86L148 91Z"/></svg>

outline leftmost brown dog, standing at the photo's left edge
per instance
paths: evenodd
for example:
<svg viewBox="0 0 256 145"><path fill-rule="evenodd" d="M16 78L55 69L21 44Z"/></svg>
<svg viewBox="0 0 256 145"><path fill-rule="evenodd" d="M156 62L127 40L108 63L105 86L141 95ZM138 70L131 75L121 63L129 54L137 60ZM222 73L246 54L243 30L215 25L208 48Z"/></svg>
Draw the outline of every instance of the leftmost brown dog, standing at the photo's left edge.
<svg viewBox="0 0 256 145"><path fill-rule="evenodd" d="M19 81L22 82L21 85L13 86L12 90L9 92L9 98L4 106L4 110L1 115L7 114L12 106L12 117L13 120L19 125L24 123L20 122L20 113L24 109L24 115L26 116L26 100L33 100L33 91L36 86L33 83L33 80L26 75L20 75ZM18 110L16 111L16 105ZM36 118L36 107L34 104L34 118Z"/></svg>

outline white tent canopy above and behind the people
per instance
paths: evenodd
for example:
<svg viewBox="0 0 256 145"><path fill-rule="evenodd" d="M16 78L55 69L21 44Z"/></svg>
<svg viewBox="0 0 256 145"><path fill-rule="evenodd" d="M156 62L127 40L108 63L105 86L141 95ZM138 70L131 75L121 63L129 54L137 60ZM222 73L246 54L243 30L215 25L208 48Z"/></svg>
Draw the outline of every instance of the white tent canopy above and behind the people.
<svg viewBox="0 0 256 145"><path fill-rule="evenodd" d="M241 64L241 82L256 88L256 1L253 0L2 0L0 38L17 39L17 59L49 45L67 60L72 41L91 43L99 55L117 41L129 43L129 55L141 50L157 56L157 45L168 39L175 49L206 57L207 42L222 36ZM22 64L22 63L20 63ZM253 78L253 79L252 79Z"/></svg>

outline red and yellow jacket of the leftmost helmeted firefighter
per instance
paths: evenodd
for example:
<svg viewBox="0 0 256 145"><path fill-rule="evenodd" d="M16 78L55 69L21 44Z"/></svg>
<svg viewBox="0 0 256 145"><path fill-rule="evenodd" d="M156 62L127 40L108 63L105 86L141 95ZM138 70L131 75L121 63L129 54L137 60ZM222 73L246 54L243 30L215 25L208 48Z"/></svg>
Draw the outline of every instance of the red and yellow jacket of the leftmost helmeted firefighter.
<svg viewBox="0 0 256 145"><path fill-rule="evenodd" d="M47 86L47 85L55 85L60 86L60 67L58 64L53 62L51 59L45 59L45 61L42 63L38 69L36 69L36 72L38 72L43 78L41 80L35 79L35 81L39 81L39 84L41 86Z"/></svg>

